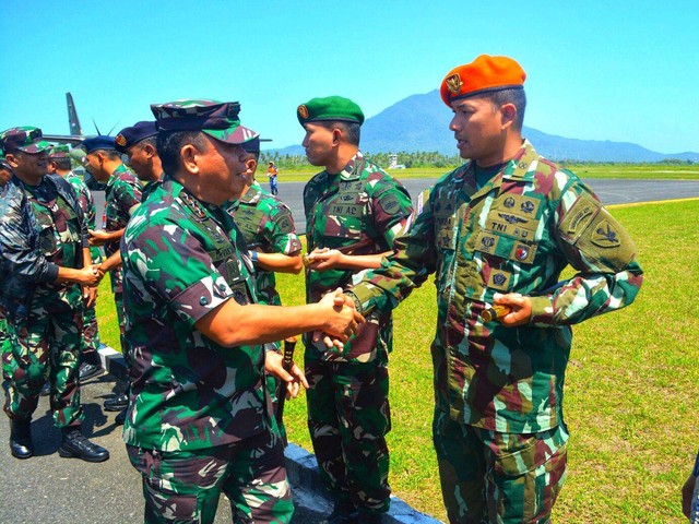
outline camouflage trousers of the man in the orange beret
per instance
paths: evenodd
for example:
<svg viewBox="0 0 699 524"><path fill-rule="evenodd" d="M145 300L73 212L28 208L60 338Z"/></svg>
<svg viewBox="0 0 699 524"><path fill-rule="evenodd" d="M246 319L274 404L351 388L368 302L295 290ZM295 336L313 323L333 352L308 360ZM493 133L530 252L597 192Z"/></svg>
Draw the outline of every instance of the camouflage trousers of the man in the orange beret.
<svg viewBox="0 0 699 524"><path fill-rule="evenodd" d="M500 433L436 409L433 439L450 523L550 522L566 474L564 425L541 433Z"/></svg>

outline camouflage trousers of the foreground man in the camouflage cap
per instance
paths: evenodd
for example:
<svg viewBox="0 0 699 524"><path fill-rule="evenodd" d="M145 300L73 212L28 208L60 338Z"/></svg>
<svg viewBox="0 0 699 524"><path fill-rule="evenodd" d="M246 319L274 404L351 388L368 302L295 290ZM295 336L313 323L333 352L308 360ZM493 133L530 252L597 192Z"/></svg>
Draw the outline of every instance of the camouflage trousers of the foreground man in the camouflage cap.
<svg viewBox="0 0 699 524"><path fill-rule="evenodd" d="M288 523L294 513L276 429L235 444L192 452L127 445L143 479L144 521L213 523L218 499L230 500L235 523Z"/></svg>

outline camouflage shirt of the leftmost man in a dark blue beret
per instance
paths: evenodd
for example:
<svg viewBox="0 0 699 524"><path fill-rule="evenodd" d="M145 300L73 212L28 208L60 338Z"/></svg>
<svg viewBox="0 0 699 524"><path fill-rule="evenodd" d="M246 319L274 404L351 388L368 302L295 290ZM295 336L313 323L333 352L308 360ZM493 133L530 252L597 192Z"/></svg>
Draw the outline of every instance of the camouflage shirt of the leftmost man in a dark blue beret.
<svg viewBox="0 0 699 524"><path fill-rule="evenodd" d="M122 164L117 167L105 190L105 215L103 228L106 231L116 231L127 226L129 218L141 205L141 182ZM105 254L110 257L119 251L119 241L106 242ZM121 266L109 272L111 291L121 293Z"/></svg>

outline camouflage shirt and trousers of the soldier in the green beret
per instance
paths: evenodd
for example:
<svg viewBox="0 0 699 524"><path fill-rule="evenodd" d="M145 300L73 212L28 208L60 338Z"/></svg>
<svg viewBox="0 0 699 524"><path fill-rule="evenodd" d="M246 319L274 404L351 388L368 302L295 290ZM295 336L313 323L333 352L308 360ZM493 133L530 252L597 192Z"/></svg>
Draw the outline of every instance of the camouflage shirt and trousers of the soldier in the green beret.
<svg viewBox="0 0 699 524"><path fill-rule="evenodd" d="M339 175L322 171L304 189L308 251L342 248L370 239L354 254L381 253L393 247L412 213L400 182L365 159L360 152ZM307 301L352 285L363 272L309 271ZM308 427L321 475L340 501L367 512L389 508L391 429L388 360L392 348L391 314L367 318L356 338L345 344L346 357L325 350L322 342L306 344Z"/></svg>

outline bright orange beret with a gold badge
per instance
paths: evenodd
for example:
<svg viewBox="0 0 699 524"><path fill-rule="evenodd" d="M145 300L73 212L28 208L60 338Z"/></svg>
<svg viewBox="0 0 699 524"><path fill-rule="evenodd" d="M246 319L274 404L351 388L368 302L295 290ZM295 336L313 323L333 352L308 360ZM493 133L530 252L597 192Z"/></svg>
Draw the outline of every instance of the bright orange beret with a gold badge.
<svg viewBox="0 0 699 524"><path fill-rule="evenodd" d="M441 81L440 94L449 107L453 100L500 90L524 88L526 73L508 57L481 55L473 62L459 66Z"/></svg>

